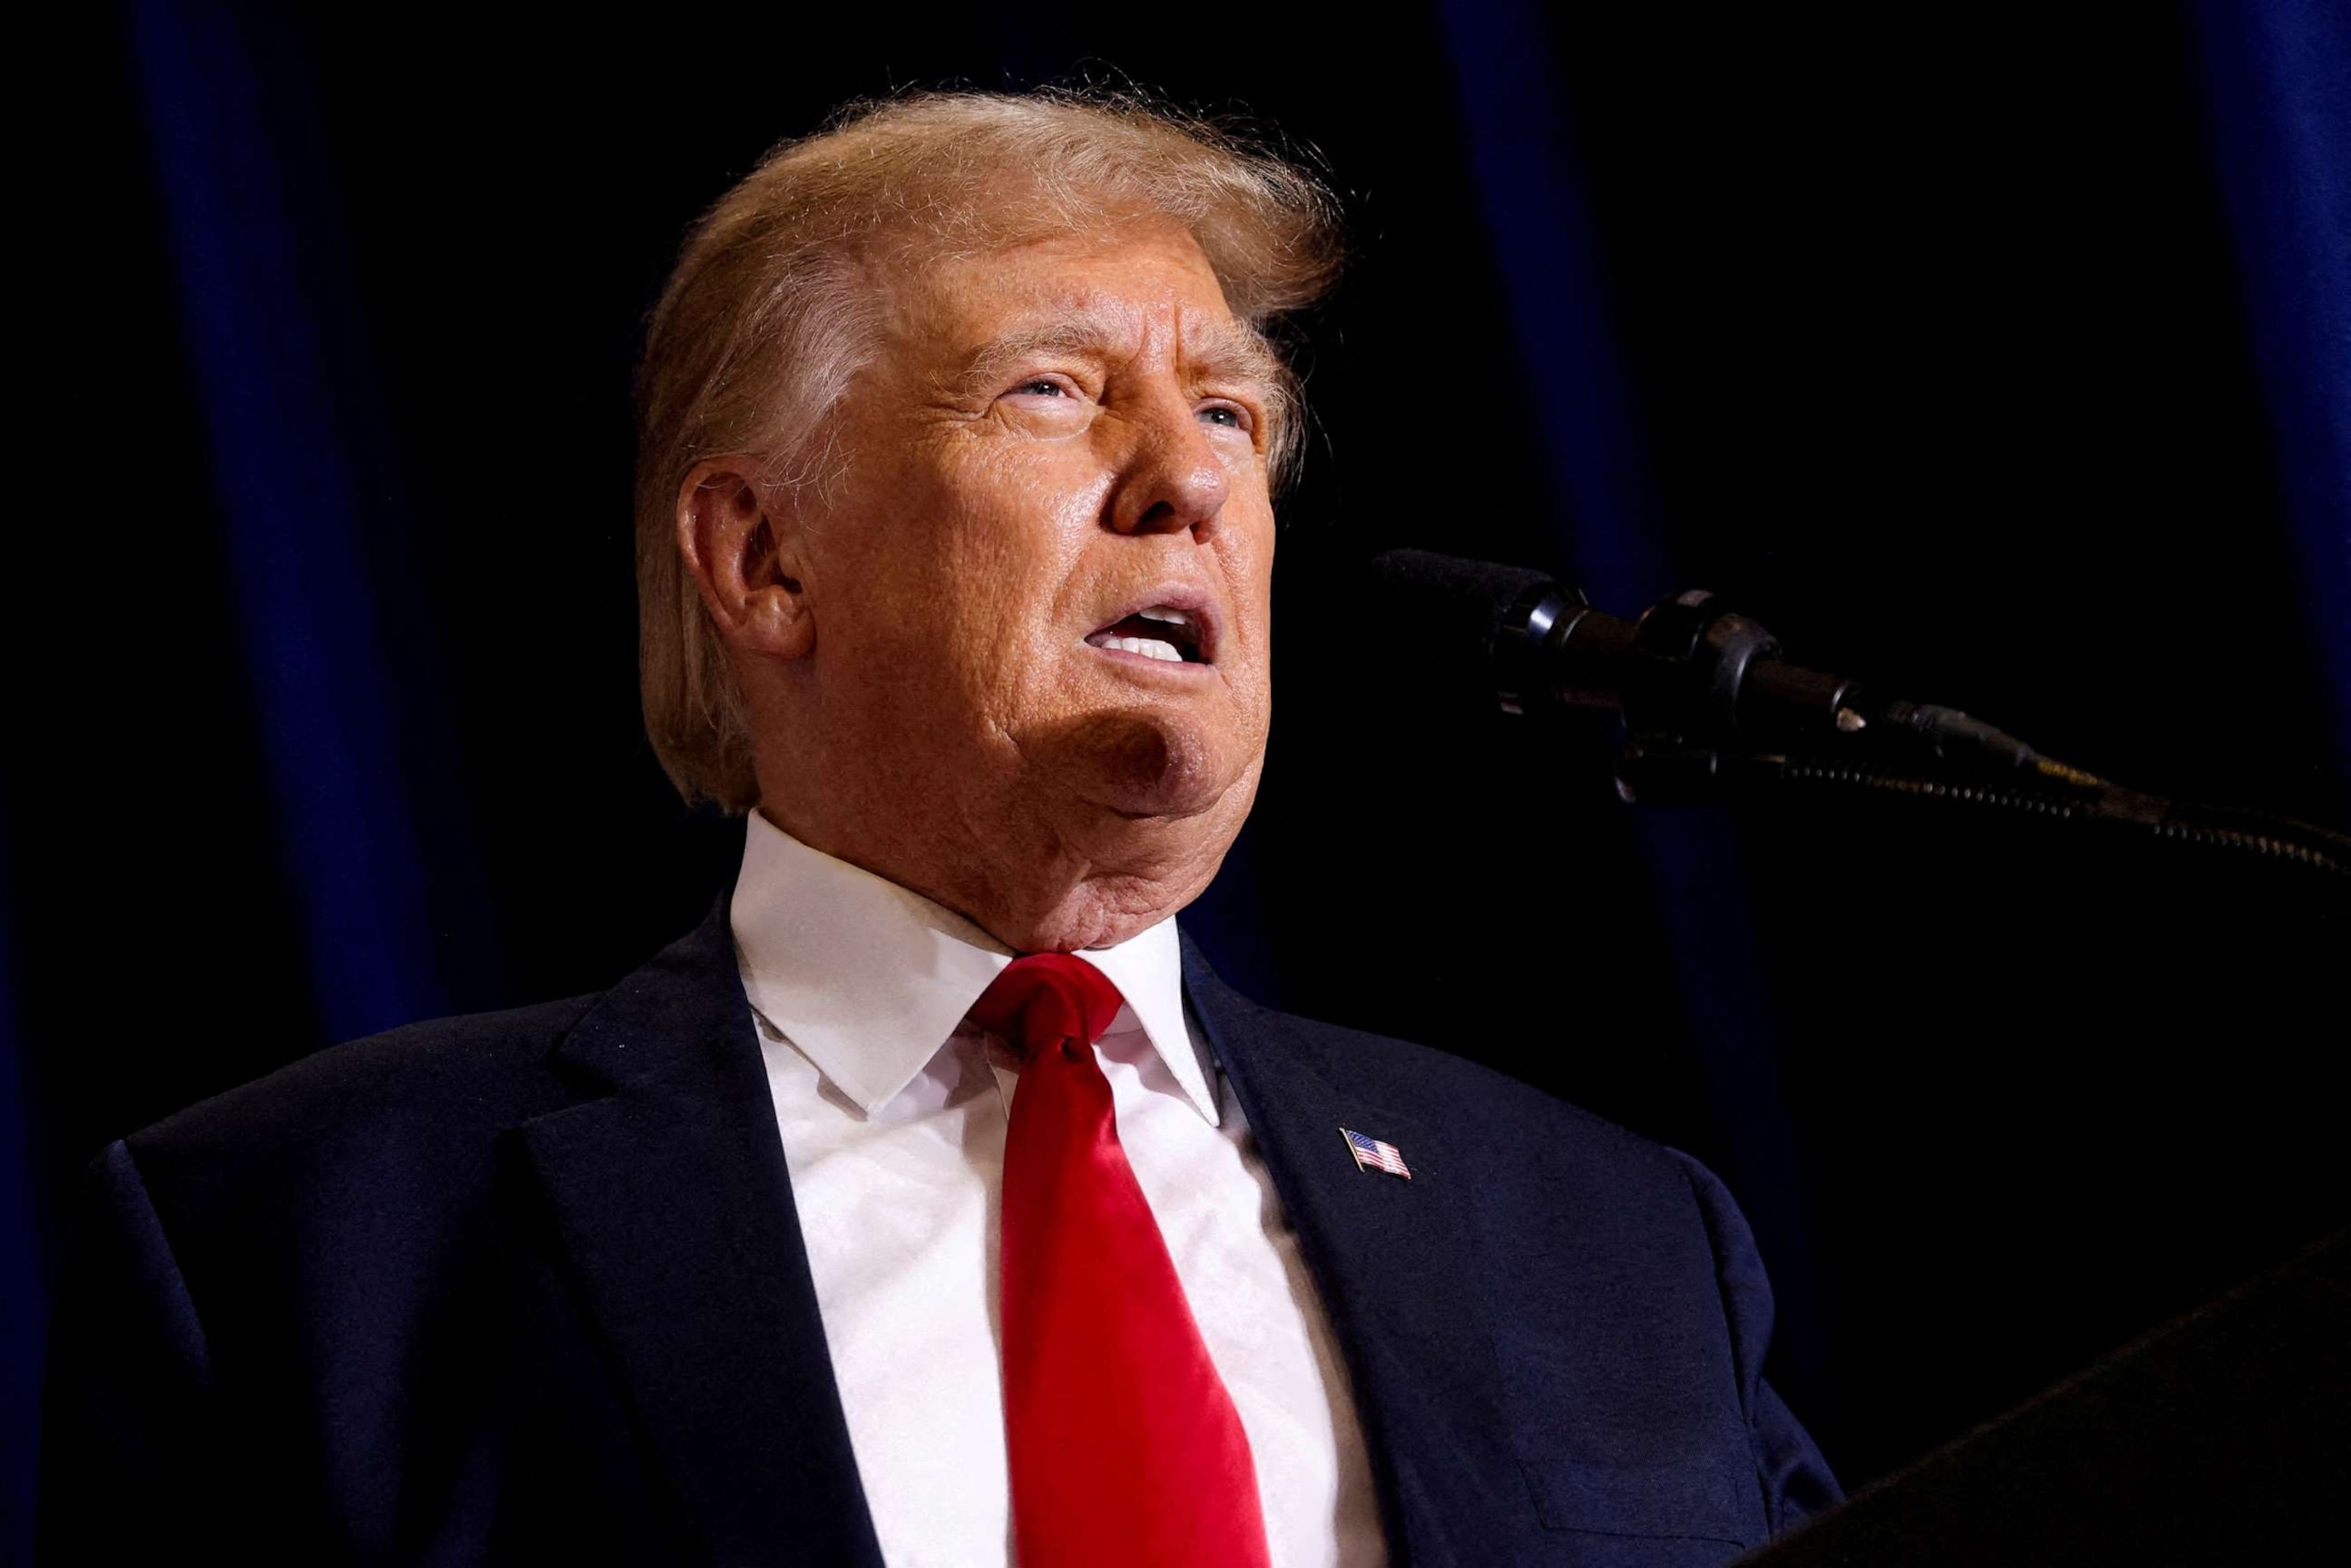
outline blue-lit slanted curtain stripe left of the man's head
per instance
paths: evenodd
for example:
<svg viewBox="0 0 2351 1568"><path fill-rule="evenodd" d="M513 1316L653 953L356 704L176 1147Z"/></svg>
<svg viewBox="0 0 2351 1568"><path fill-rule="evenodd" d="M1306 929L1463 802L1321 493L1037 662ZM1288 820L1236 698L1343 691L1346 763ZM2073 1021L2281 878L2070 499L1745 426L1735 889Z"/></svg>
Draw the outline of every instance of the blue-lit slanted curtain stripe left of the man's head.
<svg viewBox="0 0 2351 1568"><path fill-rule="evenodd" d="M322 1041L451 1011L489 936L310 66L270 7L136 0L132 75ZM454 884L454 886L435 886ZM435 945L435 933L444 940Z"/></svg>

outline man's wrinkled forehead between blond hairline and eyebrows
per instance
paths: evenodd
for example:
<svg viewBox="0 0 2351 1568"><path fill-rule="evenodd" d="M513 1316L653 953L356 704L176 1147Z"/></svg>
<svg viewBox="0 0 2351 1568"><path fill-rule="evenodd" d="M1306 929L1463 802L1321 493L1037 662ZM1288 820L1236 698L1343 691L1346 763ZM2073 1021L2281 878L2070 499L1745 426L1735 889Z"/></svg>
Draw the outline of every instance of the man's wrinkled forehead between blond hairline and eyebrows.
<svg viewBox="0 0 2351 1568"><path fill-rule="evenodd" d="M891 292L891 339L936 367L990 350L1100 346L1253 357L1199 242L1176 221L1131 221L940 256Z"/></svg>

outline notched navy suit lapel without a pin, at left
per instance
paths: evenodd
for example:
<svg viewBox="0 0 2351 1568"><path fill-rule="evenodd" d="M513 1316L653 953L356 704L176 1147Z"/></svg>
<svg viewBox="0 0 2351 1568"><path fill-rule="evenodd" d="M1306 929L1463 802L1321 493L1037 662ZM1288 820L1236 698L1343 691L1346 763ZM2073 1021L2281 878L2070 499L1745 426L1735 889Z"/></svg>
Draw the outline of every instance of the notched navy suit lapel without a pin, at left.
<svg viewBox="0 0 2351 1568"><path fill-rule="evenodd" d="M689 1554L879 1568L726 896L555 1060L609 1093L522 1138Z"/></svg>

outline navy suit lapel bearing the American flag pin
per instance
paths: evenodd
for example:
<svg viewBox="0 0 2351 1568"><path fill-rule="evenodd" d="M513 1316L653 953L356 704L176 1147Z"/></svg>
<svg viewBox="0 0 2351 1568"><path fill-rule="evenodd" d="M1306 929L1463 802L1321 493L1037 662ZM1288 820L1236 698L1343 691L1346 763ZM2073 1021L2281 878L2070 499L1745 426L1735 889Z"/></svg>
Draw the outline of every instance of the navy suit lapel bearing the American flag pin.
<svg viewBox="0 0 2351 1568"><path fill-rule="evenodd" d="M1317 1063L1295 1025L1234 994L1185 943L1185 990L1232 1079L1354 1378L1399 1561L1505 1561L1531 1516L1465 1229L1458 1159L1396 1103ZM1385 1100L1385 1103L1382 1103ZM1411 1180L1359 1171L1340 1128L1401 1150Z"/></svg>

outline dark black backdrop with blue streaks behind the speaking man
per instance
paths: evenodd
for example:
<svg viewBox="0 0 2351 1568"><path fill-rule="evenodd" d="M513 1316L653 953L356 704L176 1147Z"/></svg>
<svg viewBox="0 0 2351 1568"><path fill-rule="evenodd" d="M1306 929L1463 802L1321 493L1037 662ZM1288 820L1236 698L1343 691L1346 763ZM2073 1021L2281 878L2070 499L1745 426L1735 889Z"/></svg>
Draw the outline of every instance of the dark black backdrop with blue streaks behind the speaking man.
<svg viewBox="0 0 2351 1568"><path fill-rule="evenodd" d="M1427 705L1342 588L1396 543L1625 614L1707 585L1803 663L2342 825L2339 14L872 9L158 0L31 52L0 1512L106 1140L597 990L708 905L741 830L635 708L639 317L771 141L905 85L1133 80L1324 160L1354 261L1305 324L1281 710L1187 924L1267 1001L1714 1164L1848 1486L2346 1220L2339 893L1634 811L1606 726Z"/></svg>

